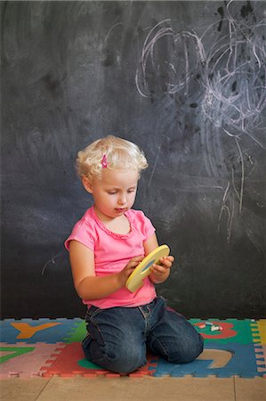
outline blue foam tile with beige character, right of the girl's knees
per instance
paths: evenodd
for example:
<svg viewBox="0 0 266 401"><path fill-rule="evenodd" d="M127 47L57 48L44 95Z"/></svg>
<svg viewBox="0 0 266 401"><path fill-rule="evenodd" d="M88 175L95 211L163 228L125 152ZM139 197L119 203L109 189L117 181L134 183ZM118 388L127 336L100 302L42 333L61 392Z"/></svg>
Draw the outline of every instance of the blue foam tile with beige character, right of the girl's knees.
<svg viewBox="0 0 266 401"><path fill-rule="evenodd" d="M226 354L225 357L222 356L222 350ZM220 360L219 356L222 356ZM192 374L195 377L216 375L221 378L232 375L248 378L263 376L263 372L258 372L257 369L253 344L234 343L228 345L209 343L202 356L189 364L170 364L159 358L156 372L153 373L154 376L170 375L173 377L182 377L185 374Z"/></svg>

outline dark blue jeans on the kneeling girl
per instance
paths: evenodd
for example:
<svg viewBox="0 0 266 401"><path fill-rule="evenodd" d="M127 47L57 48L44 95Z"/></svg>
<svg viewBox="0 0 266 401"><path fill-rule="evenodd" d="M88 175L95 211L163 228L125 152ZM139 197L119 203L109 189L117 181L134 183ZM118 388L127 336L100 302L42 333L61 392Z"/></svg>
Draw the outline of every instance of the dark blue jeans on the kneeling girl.
<svg viewBox="0 0 266 401"><path fill-rule="evenodd" d="M85 320L85 356L109 371L140 368L147 362L147 348L174 364L191 362L203 350L196 329L161 297L141 307L90 307Z"/></svg>

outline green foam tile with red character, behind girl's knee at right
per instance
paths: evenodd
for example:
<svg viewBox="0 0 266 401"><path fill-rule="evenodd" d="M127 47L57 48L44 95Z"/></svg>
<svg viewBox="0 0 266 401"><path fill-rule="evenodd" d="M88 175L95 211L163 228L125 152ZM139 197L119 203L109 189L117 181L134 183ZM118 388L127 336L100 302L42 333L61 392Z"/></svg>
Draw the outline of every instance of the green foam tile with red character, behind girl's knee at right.
<svg viewBox="0 0 266 401"><path fill-rule="evenodd" d="M254 342L254 333L251 328L251 319L238 320L238 319L190 319L189 322L193 324L197 331L202 335L205 343L219 342L222 344L229 344L231 342L238 344L250 344ZM222 326L222 331L211 331L211 326L206 325L205 329L199 329L202 323L214 323L214 325Z"/></svg>

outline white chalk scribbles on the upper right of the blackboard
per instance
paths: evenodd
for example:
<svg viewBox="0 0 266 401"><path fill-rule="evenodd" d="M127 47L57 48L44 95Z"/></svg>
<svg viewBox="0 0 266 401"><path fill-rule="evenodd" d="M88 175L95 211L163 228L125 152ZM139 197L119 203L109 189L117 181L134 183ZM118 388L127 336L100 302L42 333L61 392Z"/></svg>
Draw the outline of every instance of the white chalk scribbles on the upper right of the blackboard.
<svg viewBox="0 0 266 401"><path fill-rule="evenodd" d="M233 3L224 12L220 9L222 18L201 35L173 29L171 19L157 23L145 39L135 74L137 90L145 98L158 83L162 86L164 77L165 93L197 99L206 172L225 183L218 229L225 218L228 241L234 215L243 209L246 178L255 168L249 144L265 150L266 105L266 23L255 19L249 2L242 6L241 18L233 16ZM214 29L220 31L216 40Z"/></svg>

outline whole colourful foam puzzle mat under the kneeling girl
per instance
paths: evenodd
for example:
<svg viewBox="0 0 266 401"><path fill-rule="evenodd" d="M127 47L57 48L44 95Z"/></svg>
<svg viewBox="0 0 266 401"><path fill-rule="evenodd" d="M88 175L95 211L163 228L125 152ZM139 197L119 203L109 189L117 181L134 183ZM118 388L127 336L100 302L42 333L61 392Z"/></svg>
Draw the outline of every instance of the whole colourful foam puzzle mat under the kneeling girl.
<svg viewBox="0 0 266 401"><path fill-rule="evenodd" d="M147 364L130 377L239 376L266 378L266 319L190 319L205 348L189 364L171 364L147 356ZM5 319L0 321L0 379L20 377L119 377L85 359L81 341L85 321L75 319Z"/></svg>

